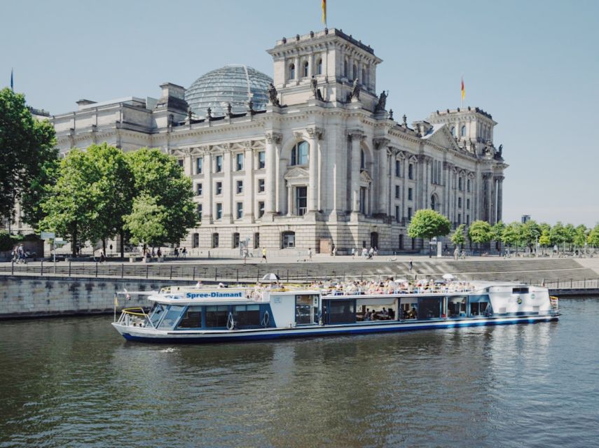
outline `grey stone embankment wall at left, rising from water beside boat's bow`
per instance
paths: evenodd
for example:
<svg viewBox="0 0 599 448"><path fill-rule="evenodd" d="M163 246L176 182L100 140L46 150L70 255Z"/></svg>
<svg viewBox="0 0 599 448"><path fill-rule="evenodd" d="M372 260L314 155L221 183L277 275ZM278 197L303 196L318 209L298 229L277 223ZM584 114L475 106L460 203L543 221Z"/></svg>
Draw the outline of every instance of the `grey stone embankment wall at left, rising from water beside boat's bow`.
<svg viewBox="0 0 599 448"><path fill-rule="evenodd" d="M158 290L173 284L193 281L144 279L60 278L39 276L0 276L0 319L17 317L102 314L113 311L114 294L130 291ZM146 296L118 296L118 309L147 306Z"/></svg>

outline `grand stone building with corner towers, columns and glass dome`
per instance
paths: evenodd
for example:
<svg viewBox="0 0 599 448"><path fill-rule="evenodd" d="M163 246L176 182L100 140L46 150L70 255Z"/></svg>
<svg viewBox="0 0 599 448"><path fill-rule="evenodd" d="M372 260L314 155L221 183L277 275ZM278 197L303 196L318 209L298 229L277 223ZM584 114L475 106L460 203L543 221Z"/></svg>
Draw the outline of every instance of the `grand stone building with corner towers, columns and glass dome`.
<svg viewBox="0 0 599 448"><path fill-rule="evenodd" d="M507 165L490 114L444 110L408 125L377 90L382 60L338 29L283 38L270 78L247 66L207 73L160 99L81 100L53 117L60 150L93 143L161 148L193 180L191 248L411 249L431 208L453 225L502 217Z"/></svg>

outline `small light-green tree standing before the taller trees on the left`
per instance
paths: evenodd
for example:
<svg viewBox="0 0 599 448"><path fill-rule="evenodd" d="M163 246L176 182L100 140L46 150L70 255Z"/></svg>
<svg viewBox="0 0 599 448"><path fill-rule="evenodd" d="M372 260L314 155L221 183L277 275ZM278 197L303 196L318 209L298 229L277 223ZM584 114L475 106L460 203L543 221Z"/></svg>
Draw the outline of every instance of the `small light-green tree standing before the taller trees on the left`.
<svg viewBox="0 0 599 448"><path fill-rule="evenodd" d="M168 231L165 228L167 210L157 204L157 198L146 193L137 196L133 201L133 210L125 216L125 228L130 231L133 244L158 246L167 241Z"/></svg>

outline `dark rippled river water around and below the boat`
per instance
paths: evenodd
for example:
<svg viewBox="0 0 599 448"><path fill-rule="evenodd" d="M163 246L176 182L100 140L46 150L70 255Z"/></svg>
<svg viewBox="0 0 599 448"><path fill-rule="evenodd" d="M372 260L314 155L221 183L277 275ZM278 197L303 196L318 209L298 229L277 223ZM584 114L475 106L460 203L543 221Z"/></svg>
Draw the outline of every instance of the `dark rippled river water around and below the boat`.
<svg viewBox="0 0 599 448"><path fill-rule="evenodd" d="M599 299L557 323L165 346L0 322L0 447L591 447Z"/></svg>

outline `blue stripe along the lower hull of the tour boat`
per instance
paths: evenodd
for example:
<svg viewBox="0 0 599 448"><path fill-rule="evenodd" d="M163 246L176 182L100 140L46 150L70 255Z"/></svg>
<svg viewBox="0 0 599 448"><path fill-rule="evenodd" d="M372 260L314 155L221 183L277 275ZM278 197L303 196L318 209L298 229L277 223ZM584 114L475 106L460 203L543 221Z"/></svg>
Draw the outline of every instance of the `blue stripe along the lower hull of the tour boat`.
<svg viewBox="0 0 599 448"><path fill-rule="evenodd" d="M239 334L228 336L205 336L205 337L144 337L134 336L129 333L123 333L123 337L128 341L135 342L155 342L162 344L205 344L212 342L239 342L239 341L256 341L266 339L288 339L291 337L318 337L318 336L336 336L336 335L359 335L364 333L375 333L375 332L396 332L396 331L415 331L415 330L431 330L431 329L446 329L446 328L462 328L462 327L476 327L476 326L487 326L487 325L512 325L515 323L538 323L538 322L550 322L557 321L557 316L547 316L544 319L539 318L518 318L509 321L463 321L455 323L446 323L441 325L420 325L420 326L397 326L393 328L377 328L373 326L371 328L344 328L343 330L318 330L312 332L261 332L257 334ZM326 327L325 327L326 328Z"/></svg>

